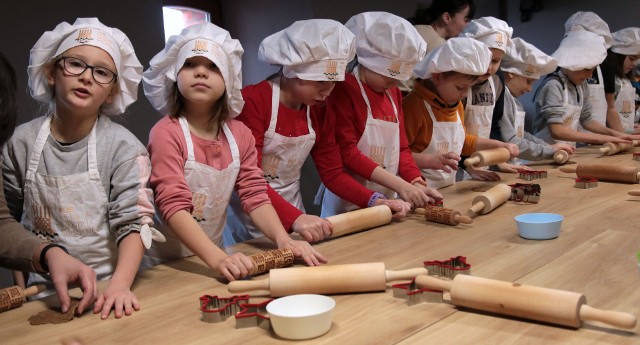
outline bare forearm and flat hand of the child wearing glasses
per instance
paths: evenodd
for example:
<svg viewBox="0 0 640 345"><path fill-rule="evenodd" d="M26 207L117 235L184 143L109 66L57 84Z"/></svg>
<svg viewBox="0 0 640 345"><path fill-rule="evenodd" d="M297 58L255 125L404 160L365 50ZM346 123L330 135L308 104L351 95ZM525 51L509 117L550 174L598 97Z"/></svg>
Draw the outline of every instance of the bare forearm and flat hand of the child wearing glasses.
<svg viewBox="0 0 640 345"><path fill-rule="evenodd" d="M116 270L109 285L98 297L93 308L94 314L100 313L100 318L104 320L109 317L111 309L114 309L114 315L119 319L123 311L125 315L131 315L134 310L140 310L140 303L131 291L131 284L136 277L143 254L140 233L130 232L120 240Z"/></svg>

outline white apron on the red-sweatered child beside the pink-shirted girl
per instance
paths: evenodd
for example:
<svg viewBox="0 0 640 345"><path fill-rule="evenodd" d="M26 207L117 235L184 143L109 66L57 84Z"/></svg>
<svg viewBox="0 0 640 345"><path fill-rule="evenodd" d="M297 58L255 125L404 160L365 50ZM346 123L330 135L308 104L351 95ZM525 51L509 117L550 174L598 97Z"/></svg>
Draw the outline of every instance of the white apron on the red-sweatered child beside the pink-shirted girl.
<svg viewBox="0 0 640 345"><path fill-rule="evenodd" d="M309 133L298 137L287 137L276 133L279 106L280 79L276 79L273 81L271 92L271 121L264 133L262 171L271 188L291 205L305 212L300 194L300 172L305 159L316 143L316 132L311 125L311 107L307 106ZM255 228L249 215L242 210L240 198L235 192L229 208L229 220L224 236L225 246L263 236L262 232Z"/></svg>

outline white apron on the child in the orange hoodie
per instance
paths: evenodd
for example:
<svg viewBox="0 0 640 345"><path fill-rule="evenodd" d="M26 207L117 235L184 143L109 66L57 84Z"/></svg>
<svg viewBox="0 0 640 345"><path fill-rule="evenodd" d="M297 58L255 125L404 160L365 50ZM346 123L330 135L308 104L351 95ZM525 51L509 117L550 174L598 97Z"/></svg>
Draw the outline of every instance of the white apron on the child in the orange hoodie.
<svg viewBox="0 0 640 345"><path fill-rule="evenodd" d="M447 152L454 152L458 155L462 153L462 146L464 145L465 132L460 121L460 115L456 114L456 122L438 122L433 114L433 109L427 101L423 101L424 106L429 112L431 117L431 123L433 124L433 133L431 134L431 141L421 153L431 155L442 155ZM442 170L433 169L421 169L422 177L427 180L427 184L432 188L443 188L450 186L456 182L456 171L452 170L450 173Z"/></svg>

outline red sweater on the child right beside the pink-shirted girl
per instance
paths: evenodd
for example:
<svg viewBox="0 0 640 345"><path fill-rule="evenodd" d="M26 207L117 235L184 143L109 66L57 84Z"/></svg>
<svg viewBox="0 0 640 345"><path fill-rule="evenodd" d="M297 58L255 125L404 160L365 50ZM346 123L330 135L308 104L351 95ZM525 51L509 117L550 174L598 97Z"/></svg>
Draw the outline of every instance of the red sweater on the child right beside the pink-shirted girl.
<svg viewBox="0 0 640 345"><path fill-rule="evenodd" d="M245 105L237 119L251 129L256 140L258 163L262 165L264 133L269 129L271 122L271 85L264 80L256 85L247 86L242 89L242 97ZM322 183L329 190L358 207L365 208L373 192L344 172L334 137L335 124L331 118L325 116L325 109L323 105L311 107L311 127L316 132L316 143L311 149L313 162ZM276 133L288 137L308 134L306 108L294 110L280 103ZM271 186L267 185L267 192L282 225L290 230L293 222L302 215L302 211L282 198Z"/></svg>

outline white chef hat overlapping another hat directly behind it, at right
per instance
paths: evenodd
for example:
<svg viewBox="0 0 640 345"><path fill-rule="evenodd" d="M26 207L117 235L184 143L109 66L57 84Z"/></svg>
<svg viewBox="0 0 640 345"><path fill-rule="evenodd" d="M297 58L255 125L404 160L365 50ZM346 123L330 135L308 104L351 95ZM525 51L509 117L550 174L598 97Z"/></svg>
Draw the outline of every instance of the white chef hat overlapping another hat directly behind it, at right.
<svg viewBox="0 0 640 345"><path fill-rule="evenodd" d="M551 56L558 60L558 66L578 71L601 64L607 57L607 46L604 38L598 34L584 30L570 31Z"/></svg>

